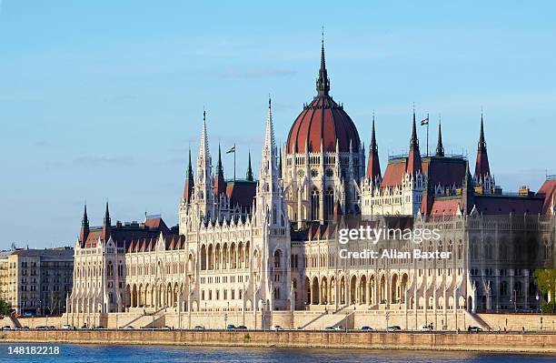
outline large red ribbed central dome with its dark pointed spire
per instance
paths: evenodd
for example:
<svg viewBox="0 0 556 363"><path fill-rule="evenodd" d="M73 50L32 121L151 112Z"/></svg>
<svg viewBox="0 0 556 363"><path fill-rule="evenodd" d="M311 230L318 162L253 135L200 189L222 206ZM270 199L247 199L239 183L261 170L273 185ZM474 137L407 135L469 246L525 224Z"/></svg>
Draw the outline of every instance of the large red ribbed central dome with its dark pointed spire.
<svg viewBox="0 0 556 363"><path fill-rule="evenodd" d="M357 152L361 141L352 119L329 95L330 79L324 62L324 43L321 52L321 69L316 82L317 96L303 107L303 111L293 122L287 141L287 153L304 153L305 146L310 153ZM323 150L321 149L323 146Z"/></svg>

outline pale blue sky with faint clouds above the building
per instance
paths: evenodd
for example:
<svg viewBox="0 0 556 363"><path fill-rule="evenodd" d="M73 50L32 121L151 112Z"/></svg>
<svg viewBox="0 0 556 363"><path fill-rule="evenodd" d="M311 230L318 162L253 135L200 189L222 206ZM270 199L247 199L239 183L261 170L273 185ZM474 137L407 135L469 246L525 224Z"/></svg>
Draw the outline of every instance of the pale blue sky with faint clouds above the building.
<svg viewBox="0 0 556 363"><path fill-rule="evenodd" d="M213 158L235 142L238 175L249 147L258 170L268 94L285 142L315 94L322 25L331 94L366 145L374 110L382 169L414 102L472 163L482 107L505 190L556 174L553 3L345 3L1 1L0 249L73 245L85 199L94 225L106 198L113 221L174 225L203 107Z"/></svg>

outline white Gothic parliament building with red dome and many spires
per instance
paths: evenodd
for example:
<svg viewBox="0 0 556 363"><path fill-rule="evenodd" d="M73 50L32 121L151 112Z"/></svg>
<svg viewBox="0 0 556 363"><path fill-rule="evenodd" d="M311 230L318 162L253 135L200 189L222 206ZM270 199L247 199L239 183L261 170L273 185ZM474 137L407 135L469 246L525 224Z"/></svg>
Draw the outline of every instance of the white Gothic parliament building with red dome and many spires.
<svg viewBox="0 0 556 363"><path fill-rule="evenodd" d="M178 226L160 216L112 223L106 205L103 225L92 227L85 207L67 297L74 324L353 328L386 316L402 328L457 328L481 312L538 311L553 298L537 290L533 271L555 262L555 177L538 191L505 193L491 173L482 117L473 168L444 152L440 125L434 153L422 153L414 111L409 152L382 169L374 119L366 151L330 89L323 45L316 96L280 147L269 100L258 177L249 156L246 177L226 179L220 147L213 167L204 115ZM436 228L440 238L420 248L450 258L341 258L338 228L356 219ZM412 249L396 239L371 247Z"/></svg>

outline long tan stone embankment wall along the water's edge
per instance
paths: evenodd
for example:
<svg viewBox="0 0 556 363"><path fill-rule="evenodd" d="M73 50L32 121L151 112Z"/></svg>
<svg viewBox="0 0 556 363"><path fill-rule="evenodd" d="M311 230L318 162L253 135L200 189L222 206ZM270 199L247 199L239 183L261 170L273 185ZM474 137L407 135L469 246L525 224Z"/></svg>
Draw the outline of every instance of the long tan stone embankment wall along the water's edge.
<svg viewBox="0 0 556 363"><path fill-rule="evenodd" d="M556 355L556 334L361 331L29 330L2 331L0 343L213 347L367 348Z"/></svg>

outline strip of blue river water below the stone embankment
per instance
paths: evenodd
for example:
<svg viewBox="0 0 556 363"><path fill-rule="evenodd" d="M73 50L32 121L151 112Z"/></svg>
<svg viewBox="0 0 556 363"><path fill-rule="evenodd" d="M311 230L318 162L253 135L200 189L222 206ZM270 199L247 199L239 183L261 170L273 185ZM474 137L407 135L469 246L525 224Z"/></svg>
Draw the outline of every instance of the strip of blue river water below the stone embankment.
<svg viewBox="0 0 556 363"><path fill-rule="evenodd" d="M434 352L362 349L306 349L306 348L199 348L172 346L58 346L57 356L8 355L9 347L29 344L0 344L0 362L554 362L554 356L485 354L468 352ZM38 346L38 345L35 345ZM52 345L48 345L52 346Z"/></svg>

